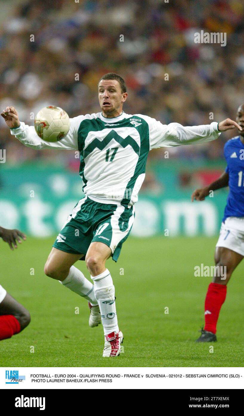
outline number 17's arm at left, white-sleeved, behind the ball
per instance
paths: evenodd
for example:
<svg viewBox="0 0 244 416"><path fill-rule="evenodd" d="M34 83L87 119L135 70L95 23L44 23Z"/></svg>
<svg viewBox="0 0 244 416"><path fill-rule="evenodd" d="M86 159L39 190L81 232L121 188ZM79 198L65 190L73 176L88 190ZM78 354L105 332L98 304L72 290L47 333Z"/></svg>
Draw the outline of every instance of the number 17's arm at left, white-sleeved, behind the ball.
<svg viewBox="0 0 244 416"><path fill-rule="evenodd" d="M13 106L8 106L1 113L5 123L10 128L10 133L21 143L32 149L66 149L78 150L77 131L81 117L70 119L70 129L66 137L60 141L47 142L42 140L36 133L34 126L28 126L19 120L17 110Z"/></svg>

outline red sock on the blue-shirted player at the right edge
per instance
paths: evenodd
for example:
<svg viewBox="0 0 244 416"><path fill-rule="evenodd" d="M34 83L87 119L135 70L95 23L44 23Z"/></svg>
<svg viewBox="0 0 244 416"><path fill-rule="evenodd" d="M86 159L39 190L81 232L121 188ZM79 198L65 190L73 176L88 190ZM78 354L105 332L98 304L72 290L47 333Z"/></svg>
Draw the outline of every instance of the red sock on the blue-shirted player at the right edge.
<svg viewBox="0 0 244 416"><path fill-rule="evenodd" d="M226 298L226 285L210 283L205 299L205 331L216 333L220 308Z"/></svg>

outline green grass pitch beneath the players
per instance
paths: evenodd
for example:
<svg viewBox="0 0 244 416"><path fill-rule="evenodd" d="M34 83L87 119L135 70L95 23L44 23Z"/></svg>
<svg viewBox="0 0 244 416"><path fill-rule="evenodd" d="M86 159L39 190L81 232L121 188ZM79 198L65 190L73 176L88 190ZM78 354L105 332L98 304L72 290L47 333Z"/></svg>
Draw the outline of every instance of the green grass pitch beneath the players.
<svg viewBox="0 0 244 416"><path fill-rule="evenodd" d="M228 285L214 352L209 343L194 342L211 281L194 277L194 267L214 264L217 238L130 237L118 262L108 260L124 333L124 354L117 358L102 358L102 326L88 326L87 302L44 275L53 241L29 237L15 252L0 243L0 282L32 316L23 332L0 342L0 366L243 366L242 263ZM84 262L76 266L89 277Z"/></svg>

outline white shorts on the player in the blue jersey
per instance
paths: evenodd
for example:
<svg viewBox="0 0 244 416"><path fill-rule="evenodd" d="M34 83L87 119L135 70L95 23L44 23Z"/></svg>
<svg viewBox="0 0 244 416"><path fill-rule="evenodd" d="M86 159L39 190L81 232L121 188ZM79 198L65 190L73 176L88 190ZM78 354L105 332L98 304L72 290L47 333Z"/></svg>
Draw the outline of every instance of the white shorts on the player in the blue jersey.
<svg viewBox="0 0 244 416"><path fill-rule="evenodd" d="M226 218L216 247L226 247L244 256L244 217Z"/></svg>

